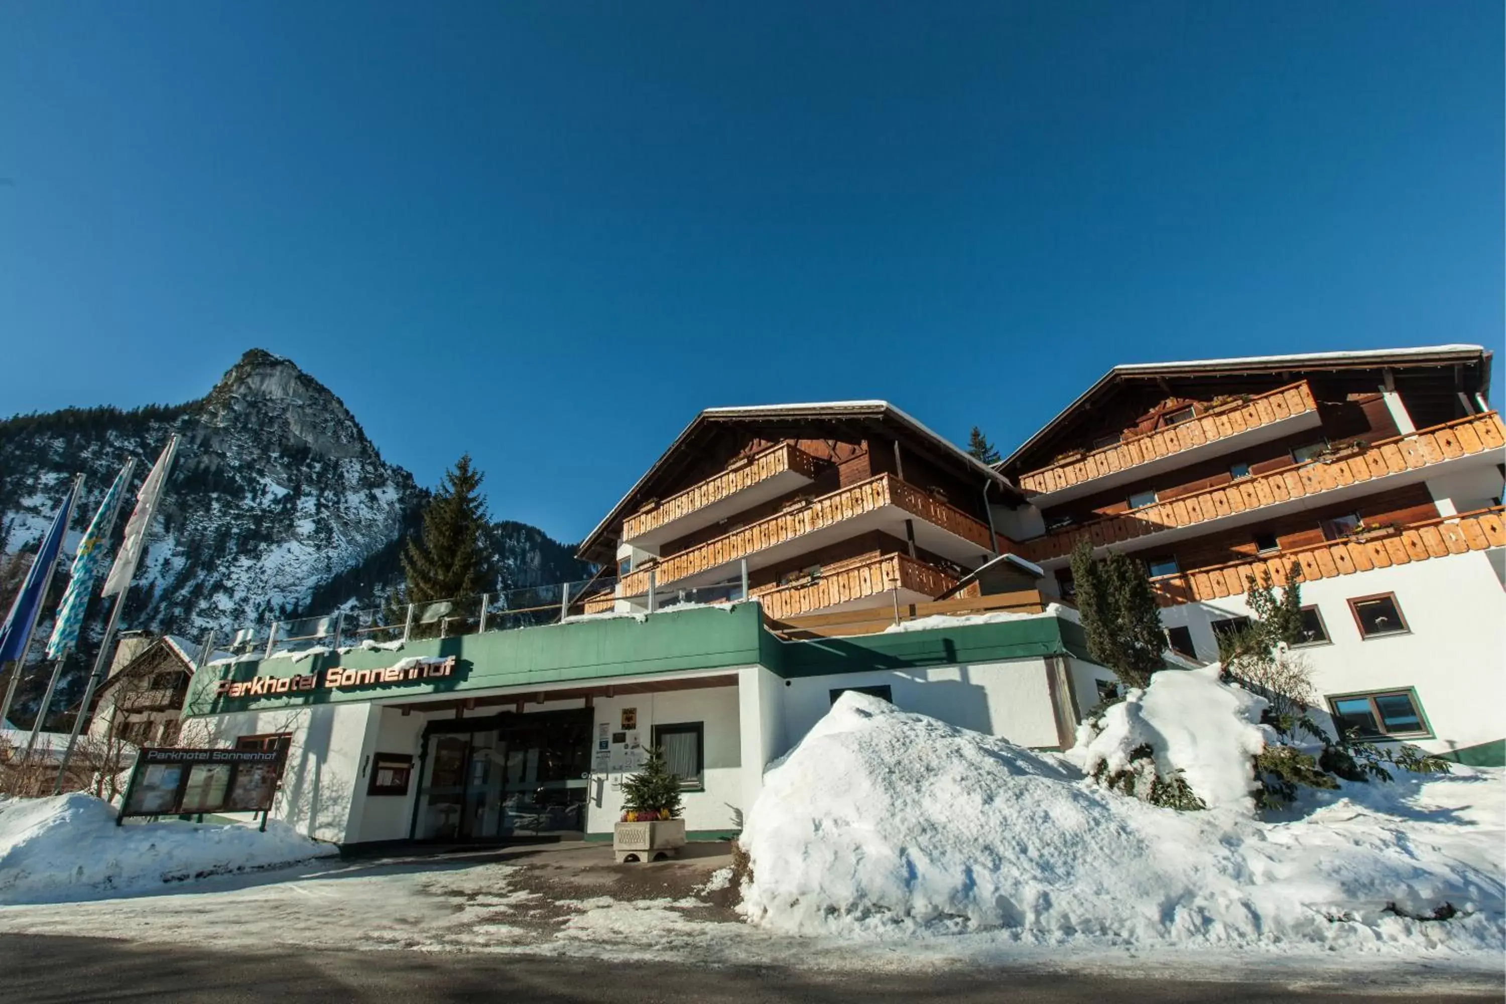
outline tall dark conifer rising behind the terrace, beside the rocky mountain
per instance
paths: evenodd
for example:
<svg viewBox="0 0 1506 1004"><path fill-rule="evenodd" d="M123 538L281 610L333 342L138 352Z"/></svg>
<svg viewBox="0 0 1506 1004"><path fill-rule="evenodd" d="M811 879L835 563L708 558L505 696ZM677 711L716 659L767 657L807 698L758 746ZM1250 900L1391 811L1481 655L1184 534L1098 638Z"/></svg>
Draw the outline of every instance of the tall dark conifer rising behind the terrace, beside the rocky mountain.
<svg viewBox="0 0 1506 1004"><path fill-rule="evenodd" d="M423 525L402 551L404 596L413 604L456 599L491 589L495 577L486 533L483 474L470 455L444 473L434 498L423 509Z"/></svg>

